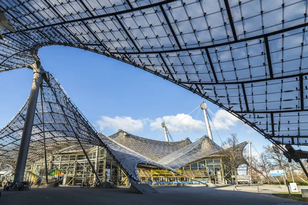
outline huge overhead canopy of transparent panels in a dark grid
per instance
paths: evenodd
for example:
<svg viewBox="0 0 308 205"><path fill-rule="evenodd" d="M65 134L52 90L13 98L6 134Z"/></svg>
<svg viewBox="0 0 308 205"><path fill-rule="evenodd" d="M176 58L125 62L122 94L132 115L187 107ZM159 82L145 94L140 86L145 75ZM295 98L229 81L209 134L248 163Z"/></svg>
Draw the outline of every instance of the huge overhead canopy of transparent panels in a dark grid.
<svg viewBox="0 0 308 205"><path fill-rule="evenodd" d="M308 145L307 1L0 1L0 72L64 45L156 74L276 144Z"/></svg>

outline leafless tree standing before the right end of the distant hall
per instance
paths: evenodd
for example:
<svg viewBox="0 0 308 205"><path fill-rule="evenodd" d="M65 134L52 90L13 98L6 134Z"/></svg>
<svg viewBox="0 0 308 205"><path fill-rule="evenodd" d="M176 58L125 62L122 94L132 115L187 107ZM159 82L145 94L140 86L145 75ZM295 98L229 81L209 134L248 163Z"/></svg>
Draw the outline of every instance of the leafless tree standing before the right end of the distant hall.
<svg viewBox="0 0 308 205"><path fill-rule="evenodd" d="M224 151L225 169L233 171L236 182L238 182L238 168L247 163L246 157L243 155L244 147L239 145L237 134L232 134L232 137L228 137L222 142L222 147L226 149Z"/></svg>

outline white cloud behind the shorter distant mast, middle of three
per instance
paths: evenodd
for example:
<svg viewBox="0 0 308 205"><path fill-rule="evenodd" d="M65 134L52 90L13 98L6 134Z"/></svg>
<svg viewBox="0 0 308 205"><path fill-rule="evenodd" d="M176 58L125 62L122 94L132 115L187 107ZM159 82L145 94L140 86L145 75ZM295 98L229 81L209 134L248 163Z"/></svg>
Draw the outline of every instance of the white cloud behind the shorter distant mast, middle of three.
<svg viewBox="0 0 308 205"><path fill-rule="evenodd" d="M193 119L190 115L187 115L184 113L179 113L177 115L168 115L168 116L158 117L154 121L151 122L150 124L151 129L153 130L161 126L163 121L166 122L166 126L169 130L172 127L174 127L179 121L181 121L176 127L172 128L172 132L189 132L192 126L193 126L192 130L195 132L206 130L205 124L203 121L196 120L195 122L195 119Z"/></svg>

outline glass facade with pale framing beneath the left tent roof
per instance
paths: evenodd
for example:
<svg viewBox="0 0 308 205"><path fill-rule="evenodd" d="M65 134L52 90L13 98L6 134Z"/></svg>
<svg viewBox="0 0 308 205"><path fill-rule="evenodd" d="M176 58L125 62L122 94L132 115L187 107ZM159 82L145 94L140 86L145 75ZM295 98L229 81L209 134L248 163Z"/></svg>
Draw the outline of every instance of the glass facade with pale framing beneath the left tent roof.
<svg viewBox="0 0 308 205"><path fill-rule="evenodd" d="M88 156L95 167L95 149L91 149ZM82 181L94 179L91 167L83 153L68 153L48 156L48 176L59 179L63 185L79 185ZM37 176L45 176L45 162L43 159L30 165L25 173L25 179L35 181ZM33 175L33 174L34 175ZM113 181L118 186L128 185L127 176L118 164L100 148L98 156L98 175L102 181Z"/></svg>

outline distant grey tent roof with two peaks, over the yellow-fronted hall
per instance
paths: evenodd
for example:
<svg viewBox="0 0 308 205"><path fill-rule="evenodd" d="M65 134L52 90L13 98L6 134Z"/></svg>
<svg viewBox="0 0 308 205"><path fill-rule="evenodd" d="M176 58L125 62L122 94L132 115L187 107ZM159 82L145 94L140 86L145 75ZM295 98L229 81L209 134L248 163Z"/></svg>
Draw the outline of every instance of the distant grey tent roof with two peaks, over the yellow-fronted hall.
<svg viewBox="0 0 308 205"><path fill-rule="evenodd" d="M118 142L123 150L128 149L139 156L172 169L179 169L188 163L206 157L224 157L226 151L206 135L193 143L188 138L181 141L166 142L139 137L119 130L108 138ZM106 143L109 144L109 142ZM237 146L239 150L243 150L246 145L247 142L242 142Z"/></svg>

